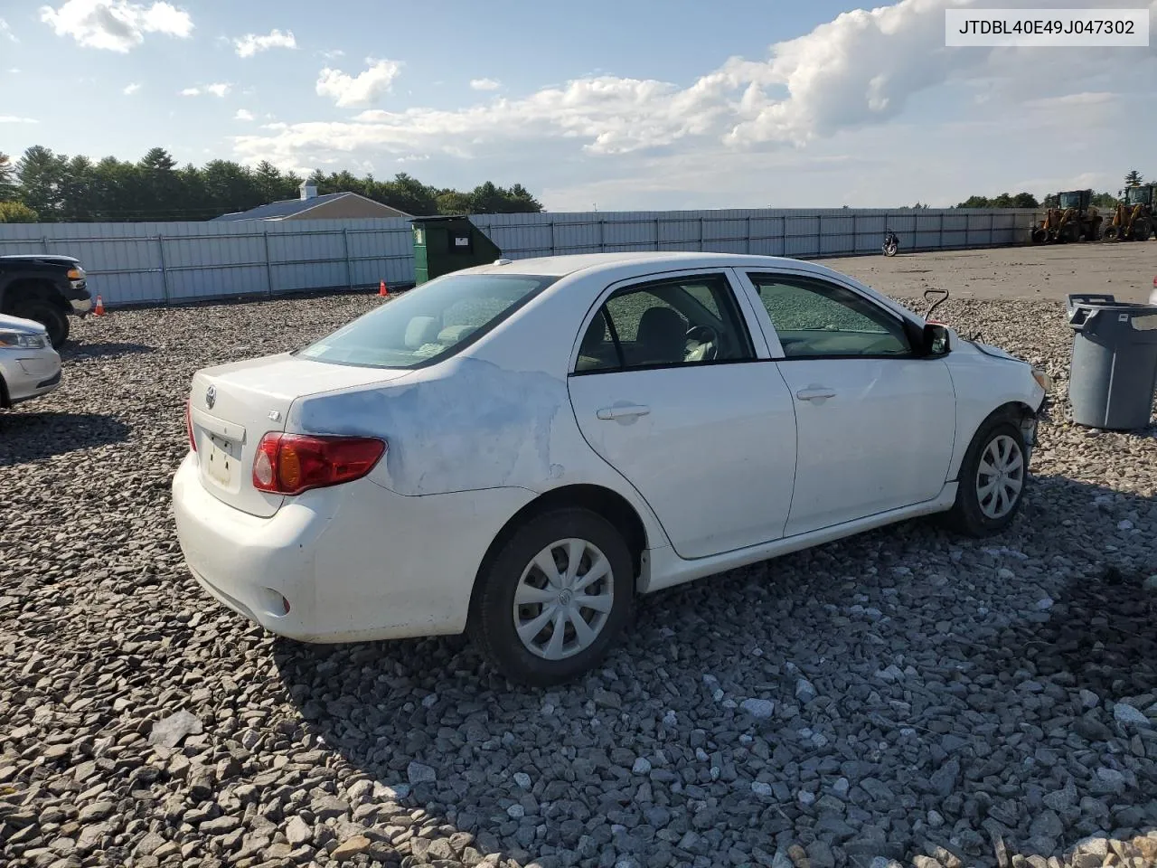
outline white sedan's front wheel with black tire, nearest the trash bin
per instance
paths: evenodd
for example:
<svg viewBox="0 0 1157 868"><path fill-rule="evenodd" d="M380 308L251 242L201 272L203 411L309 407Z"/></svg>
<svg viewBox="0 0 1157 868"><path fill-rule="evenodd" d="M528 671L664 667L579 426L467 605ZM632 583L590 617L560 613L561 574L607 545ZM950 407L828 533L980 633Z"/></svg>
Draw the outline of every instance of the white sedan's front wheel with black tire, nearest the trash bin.
<svg viewBox="0 0 1157 868"><path fill-rule="evenodd" d="M956 502L944 514L944 524L971 537L1000 534L1020 510L1027 478L1029 450L1020 427L1007 417L985 422L960 464Z"/></svg>

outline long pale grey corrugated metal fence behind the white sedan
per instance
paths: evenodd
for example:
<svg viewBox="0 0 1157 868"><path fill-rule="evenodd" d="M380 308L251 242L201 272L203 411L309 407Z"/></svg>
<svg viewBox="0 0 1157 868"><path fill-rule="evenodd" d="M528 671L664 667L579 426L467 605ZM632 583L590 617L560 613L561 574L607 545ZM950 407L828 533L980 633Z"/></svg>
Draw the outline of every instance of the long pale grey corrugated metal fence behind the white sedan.
<svg viewBox="0 0 1157 868"><path fill-rule="evenodd" d="M813 258L900 248L1024 243L1032 211L734 209L480 214L509 258L626 250L702 250ZM0 225L0 255L65 253L110 306L175 304L302 290L413 284L411 226L393 220Z"/></svg>

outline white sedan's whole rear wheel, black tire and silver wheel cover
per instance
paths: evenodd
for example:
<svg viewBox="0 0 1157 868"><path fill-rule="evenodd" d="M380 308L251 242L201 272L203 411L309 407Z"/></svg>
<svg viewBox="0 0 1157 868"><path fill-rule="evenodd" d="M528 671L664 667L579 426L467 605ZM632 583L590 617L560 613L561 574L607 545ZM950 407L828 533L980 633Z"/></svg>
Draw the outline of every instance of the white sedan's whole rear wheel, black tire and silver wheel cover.
<svg viewBox="0 0 1157 868"><path fill-rule="evenodd" d="M622 535L597 513L565 508L535 516L479 571L471 638L511 682L546 687L570 681L596 665L631 620L633 562ZM591 572L599 578L589 580Z"/></svg>

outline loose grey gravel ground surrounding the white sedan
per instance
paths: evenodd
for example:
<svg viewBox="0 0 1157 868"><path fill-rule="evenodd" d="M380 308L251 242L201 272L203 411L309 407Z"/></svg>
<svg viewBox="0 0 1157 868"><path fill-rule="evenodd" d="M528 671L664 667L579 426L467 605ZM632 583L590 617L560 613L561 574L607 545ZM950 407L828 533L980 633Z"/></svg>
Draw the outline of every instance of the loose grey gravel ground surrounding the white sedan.
<svg viewBox="0 0 1157 868"><path fill-rule="evenodd" d="M912 522L663 591L599 671L514 690L459 638L275 640L182 566L193 370L376 303L88 319L0 414L0 865L1157 863L1154 429L1062 399L1004 536ZM1057 303L937 312L1063 396Z"/></svg>

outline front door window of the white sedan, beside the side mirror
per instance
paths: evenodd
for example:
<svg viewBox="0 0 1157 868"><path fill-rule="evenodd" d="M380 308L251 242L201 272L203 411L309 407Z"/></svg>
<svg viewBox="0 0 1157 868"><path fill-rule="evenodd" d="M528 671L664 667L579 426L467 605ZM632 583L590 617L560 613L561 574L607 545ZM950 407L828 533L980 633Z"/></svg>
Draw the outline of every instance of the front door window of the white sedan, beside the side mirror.
<svg viewBox="0 0 1157 868"><path fill-rule="evenodd" d="M796 275L749 277L788 359L912 354L899 318L850 289Z"/></svg>

